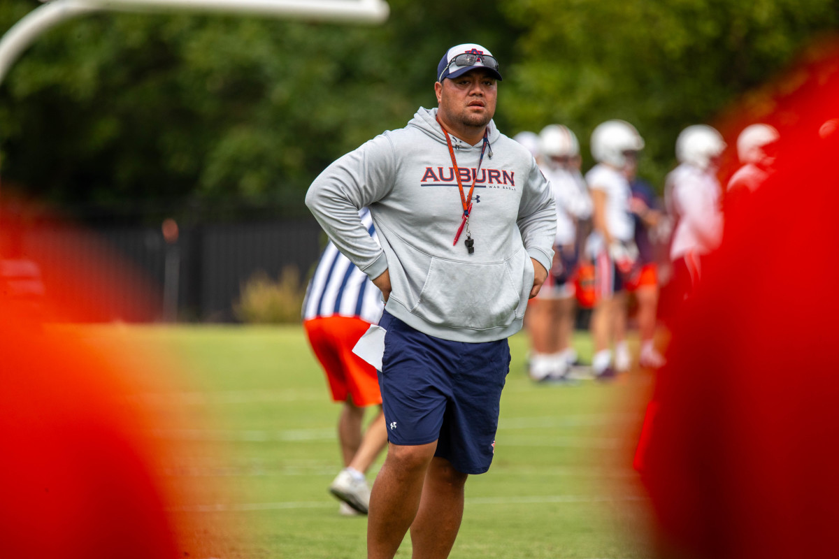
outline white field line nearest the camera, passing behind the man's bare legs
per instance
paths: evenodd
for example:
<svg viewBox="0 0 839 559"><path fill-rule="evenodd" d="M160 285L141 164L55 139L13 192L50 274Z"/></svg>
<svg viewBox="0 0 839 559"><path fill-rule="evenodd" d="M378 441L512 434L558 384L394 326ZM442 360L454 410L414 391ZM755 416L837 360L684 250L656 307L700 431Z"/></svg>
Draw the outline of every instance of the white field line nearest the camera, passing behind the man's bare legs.
<svg viewBox="0 0 839 559"><path fill-rule="evenodd" d="M553 503L618 503L640 501L643 495L539 495L533 497L466 497L466 505L549 505ZM336 505L329 501L288 501L281 503L231 503L215 505L185 505L172 507L173 512L247 512L254 510L329 509Z"/></svg>

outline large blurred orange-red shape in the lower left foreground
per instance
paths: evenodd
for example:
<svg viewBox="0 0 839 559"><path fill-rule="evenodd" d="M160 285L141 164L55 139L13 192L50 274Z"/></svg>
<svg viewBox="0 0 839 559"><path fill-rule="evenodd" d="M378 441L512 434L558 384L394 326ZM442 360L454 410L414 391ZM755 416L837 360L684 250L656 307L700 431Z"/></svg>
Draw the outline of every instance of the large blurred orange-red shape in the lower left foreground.
<svg viewBox="0 0 839 559"><path fill-rule="evenodd" d="M4 239L19 236L9 230L12 220L0 225ZM15 264L0 274L0 557L188 555L172 520L184 508L183 491L164 477L169 443L152 435L171 426L143 407L131 385L139 378L146 388L157 384L166 368L149 366L148 349L91 344L90 326L65 322L101 315L96 305L107 300L107 282L96 292L73 287L80 284L74 274L102 269L98 255L66 254L84 269L62 268L65 281L46 291L17 287L23 276L13 272L26 255L0 256ZM186 516L180 513L179 525Z"/></svg>

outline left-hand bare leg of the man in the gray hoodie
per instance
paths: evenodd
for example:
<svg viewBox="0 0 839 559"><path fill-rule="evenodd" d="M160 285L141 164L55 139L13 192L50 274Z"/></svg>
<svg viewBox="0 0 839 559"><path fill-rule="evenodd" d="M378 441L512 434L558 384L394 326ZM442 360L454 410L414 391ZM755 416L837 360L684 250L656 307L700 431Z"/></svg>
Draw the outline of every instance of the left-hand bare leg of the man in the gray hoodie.
<svg viewBox="0 0 839 559"><path fill-rule="evenodd" d="M393 559L408 533L434 458L437 442L388 445L388 457L376 476L367 513L367 559Z"/></svg>

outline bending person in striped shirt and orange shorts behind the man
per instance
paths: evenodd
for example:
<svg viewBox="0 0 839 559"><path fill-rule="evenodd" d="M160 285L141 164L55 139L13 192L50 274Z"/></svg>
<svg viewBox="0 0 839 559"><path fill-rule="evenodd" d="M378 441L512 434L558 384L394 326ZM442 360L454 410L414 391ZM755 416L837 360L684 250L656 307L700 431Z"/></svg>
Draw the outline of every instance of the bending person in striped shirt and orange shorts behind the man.
<svg viewBox="0 0 839 559"><path fill-rule="evenodd" d="M362 224L377 238L370 210L360 212ZM373 365L352 353L370 324L382 316L381 292L331 242L315 268L303 303L303 328L326 374L334 401L342 402L338 442L344 468L329 486L341 500L342 515L367 514L370 488L365 474L388 442L382 394ZM378 406L362 433L367 407Z"/></svg>

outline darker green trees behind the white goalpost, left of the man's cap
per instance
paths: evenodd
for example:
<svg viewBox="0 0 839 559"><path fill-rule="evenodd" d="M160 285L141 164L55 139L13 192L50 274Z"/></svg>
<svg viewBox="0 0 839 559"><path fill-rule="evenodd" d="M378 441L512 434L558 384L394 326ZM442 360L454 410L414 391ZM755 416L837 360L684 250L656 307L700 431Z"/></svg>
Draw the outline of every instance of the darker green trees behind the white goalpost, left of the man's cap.
<svg viewBox="0 0 839 559"><path fill-rule="evenodd" d="M8 2L6 28L37 5ZM381 27L124 13L65 23L0 89L3 178L63 206L238 200L303 212L328 163L435 103L442 45L512 50L492 5L391 8Z"/></svg>

